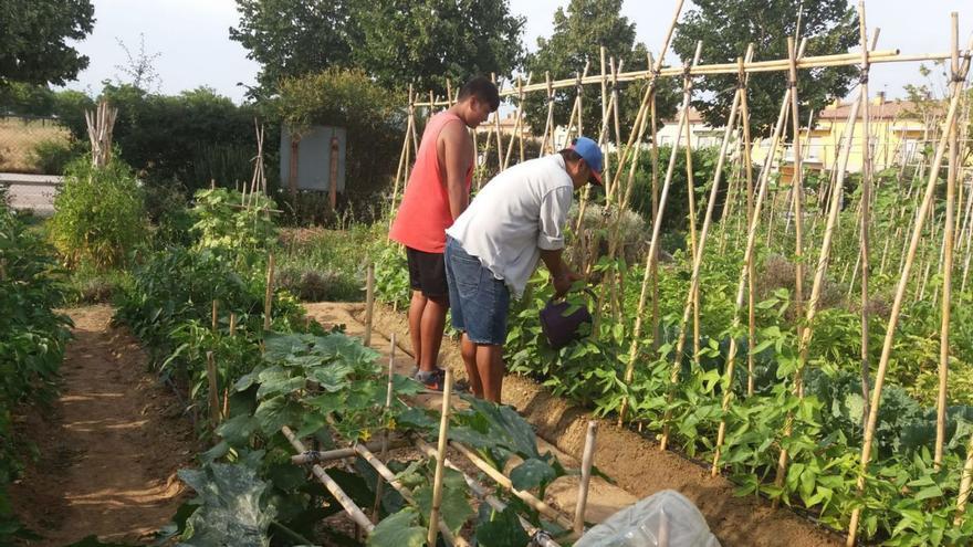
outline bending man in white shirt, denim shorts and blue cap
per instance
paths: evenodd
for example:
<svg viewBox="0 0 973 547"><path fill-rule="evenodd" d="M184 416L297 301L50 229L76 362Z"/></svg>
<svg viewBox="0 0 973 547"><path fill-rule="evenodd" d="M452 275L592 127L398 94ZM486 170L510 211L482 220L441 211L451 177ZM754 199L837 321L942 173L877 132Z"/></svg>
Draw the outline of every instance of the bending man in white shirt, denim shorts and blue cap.
<svg viewBox="0 0 973 547"><path fill-rule="evenodd" d="M557 295L580 278L562 253L574 190L588 181L601 183L601 149L578 137L571 148L494 177L446 231L452 325L463 334L474 396L500 402L510 293L523 294L538 259Z"/></svg>

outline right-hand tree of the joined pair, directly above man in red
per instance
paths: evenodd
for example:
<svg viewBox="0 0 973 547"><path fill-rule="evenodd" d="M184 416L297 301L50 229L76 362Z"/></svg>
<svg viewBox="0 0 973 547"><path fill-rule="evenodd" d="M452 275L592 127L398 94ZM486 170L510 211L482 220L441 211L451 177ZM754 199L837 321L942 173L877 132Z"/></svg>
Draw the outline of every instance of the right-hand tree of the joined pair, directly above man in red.
<svg viewBox="0 0 973 547"><path fill-rule="evenodd" d="M388 87L453 92L478 74L511 74L523 57L524 19L506 0L360 2L354 23L356 65Z"/></svg>

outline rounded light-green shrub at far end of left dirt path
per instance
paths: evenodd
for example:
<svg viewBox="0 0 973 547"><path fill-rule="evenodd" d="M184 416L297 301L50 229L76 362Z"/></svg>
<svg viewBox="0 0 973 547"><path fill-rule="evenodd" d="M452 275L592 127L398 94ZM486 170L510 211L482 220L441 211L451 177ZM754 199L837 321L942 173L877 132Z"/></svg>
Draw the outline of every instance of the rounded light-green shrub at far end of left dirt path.
<svg viewBox="0 0 973 547"><path fill-rule="evenodd" d="M72 161L54 198L50 233L69 264L121 264L147 235L143 193L132 169L117 158L101 169L90 157Z"/></svg>

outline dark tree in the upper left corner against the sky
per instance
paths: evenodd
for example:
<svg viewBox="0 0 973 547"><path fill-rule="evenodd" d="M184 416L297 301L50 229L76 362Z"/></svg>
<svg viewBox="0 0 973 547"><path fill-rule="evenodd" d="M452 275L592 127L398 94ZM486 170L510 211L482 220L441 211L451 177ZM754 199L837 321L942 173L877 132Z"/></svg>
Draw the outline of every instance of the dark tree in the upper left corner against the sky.
<svg viewBox="0 0 973 547"><path fill-rule="evenodd" d="M88 59L66 43L94 29L91 0L2 0L0 88L11 82L64 85Z"/></svg>

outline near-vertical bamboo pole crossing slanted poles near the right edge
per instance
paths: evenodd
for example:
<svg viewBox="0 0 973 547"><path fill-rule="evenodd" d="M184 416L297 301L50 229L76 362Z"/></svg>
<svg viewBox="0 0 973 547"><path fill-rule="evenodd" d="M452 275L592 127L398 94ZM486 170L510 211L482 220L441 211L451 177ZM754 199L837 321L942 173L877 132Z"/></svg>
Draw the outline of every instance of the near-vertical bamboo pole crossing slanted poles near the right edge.
<svg viewBox="0 0 973 547"><path fill-rule="evenodd" d="M953 59L950 72L953 81L960 75L960 15L955 11L950 13L951 43L953 45ZM950 366L950 305L952 304L953 290L953 207L956 198L956 171L960 168L959 152L960 143L956 124L950 126L950 164L946 176L946 214L943 223L943 263L942 263L942 323L939 335L939 393L935 404L935 450L933 465L939 469L942 465L943 444L946 438L946 380Z"/></svg>

